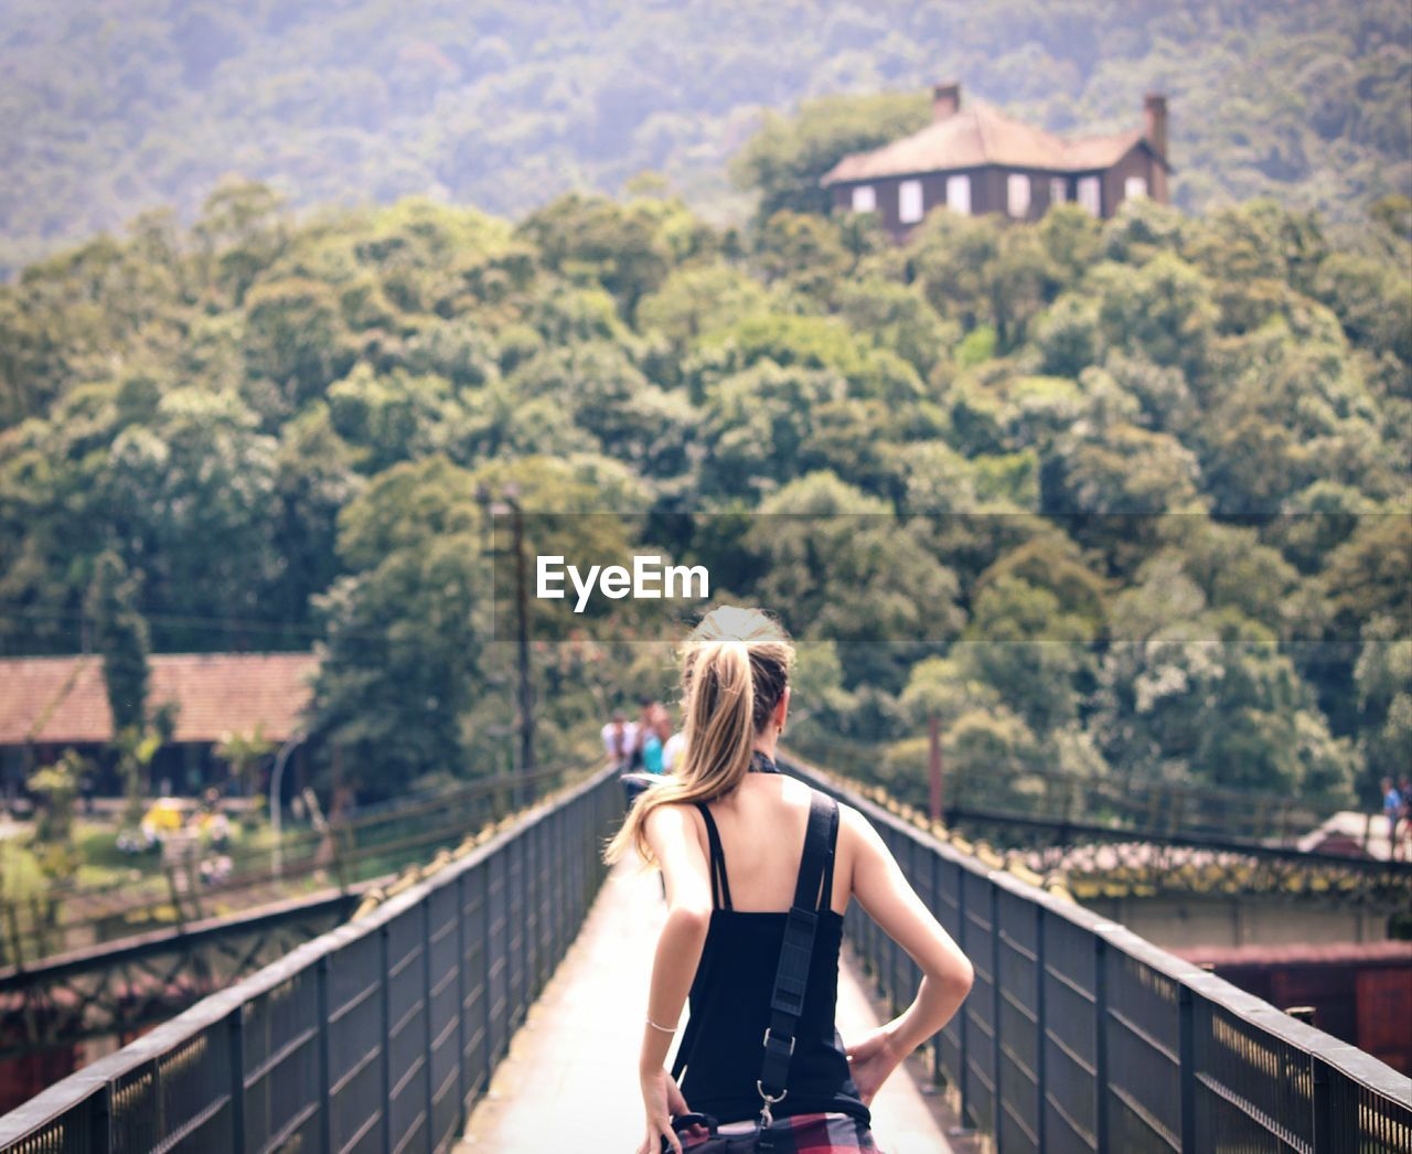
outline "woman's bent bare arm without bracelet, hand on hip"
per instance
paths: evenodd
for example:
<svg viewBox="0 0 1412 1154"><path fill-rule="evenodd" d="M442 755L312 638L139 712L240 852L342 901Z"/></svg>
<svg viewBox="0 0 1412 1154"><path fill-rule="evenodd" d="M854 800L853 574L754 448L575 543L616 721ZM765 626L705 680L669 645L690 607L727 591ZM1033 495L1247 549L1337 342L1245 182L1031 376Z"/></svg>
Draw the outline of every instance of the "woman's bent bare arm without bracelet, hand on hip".
<svg viewBox="0 0 1412 1154"><path fill-rule="evenodd" d="M974 970L902 876L867 818L843 804L839 818L853 843L853 897L922 970L912 1004L849 1047L853 1081L863 1102L870 1105L901 1061L952 1020L970 993Z"/></svg>

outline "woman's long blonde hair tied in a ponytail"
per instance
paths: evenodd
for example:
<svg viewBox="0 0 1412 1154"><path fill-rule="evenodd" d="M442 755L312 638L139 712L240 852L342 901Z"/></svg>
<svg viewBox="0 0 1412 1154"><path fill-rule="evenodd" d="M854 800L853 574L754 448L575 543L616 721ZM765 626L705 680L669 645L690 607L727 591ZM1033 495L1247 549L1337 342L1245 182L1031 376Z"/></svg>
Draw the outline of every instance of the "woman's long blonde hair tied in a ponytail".
<svg viewBox="0 0 1412 1154"><path fill-rule="evenodd" d="M647 816L661 805L712 801L734 790L750 768L755 734L785 694L794 646L762 609L723 605L707 613L681 650L686 749L681 768L638 794L603 857L635 847L647 864Z"/></svg>

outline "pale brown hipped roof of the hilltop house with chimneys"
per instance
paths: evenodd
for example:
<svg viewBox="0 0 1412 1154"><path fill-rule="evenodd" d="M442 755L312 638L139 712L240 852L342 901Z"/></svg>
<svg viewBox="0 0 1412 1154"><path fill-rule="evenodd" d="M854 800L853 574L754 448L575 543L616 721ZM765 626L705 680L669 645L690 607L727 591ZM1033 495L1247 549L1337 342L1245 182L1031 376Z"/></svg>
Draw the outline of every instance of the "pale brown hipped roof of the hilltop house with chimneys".
<svg viewBox="0 0 1412 1154"><path fill-rule="evenodd" d="M1152 147L1141 129L1065 140L990 105L976 103L881 148L850 153L825 174L820 184L827 186L984 165L1089 172L1113 167L1138 144ZM1166 158L1156 151L1152 155L1166 164Z"/></svg>

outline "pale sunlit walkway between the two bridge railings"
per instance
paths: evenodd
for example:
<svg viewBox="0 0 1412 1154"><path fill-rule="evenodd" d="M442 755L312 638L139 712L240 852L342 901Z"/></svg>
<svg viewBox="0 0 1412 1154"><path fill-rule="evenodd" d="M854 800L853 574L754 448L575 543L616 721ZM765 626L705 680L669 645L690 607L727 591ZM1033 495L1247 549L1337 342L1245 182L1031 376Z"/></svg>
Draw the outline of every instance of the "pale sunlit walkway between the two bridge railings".
<svg viewBox="0 0 1412 1154"><path fill-rule="evenodd" d="M665 905L658 876L635 870L635 863L618 863L609 876L578 941L511 1041L457 1154L631 1154L642 1141L637 1048ZM844 1041L877 1025L849 966L839 973L837 1025ZM885 1154L950 1151L905 1069L874 1100L873 1133Z"/></svg>

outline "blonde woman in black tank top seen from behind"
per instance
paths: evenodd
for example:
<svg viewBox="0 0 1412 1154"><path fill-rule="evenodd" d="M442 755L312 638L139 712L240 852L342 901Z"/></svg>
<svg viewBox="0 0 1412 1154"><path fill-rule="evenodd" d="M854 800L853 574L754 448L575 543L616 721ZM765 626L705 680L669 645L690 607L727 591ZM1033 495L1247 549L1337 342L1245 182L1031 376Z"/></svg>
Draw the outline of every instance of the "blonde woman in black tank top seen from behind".
<svg viewBox="0 0 1412 1154"><path fill-rule="evenodd" d="M635 847L666 884L642 1025L647 1136L638 1154L657 1154L664 1138L681 1151L671 1119L690 1110L723 1124L791 1117L796 1144L810 1151L875 1150L873 1096L970 990L970 963L863 815L775 767L792 664L792 646L761 610L727 606L702 620L682 654L686 747L678 771L637 799L607 850L616 862ZM805 877L801 862L806 828L823 828L818 814L826 815L832 849L810 857L827 863L822 881ZM816 833L809 845L822 840ZM765 1085L762 1069L778 1069L764 1064L765 1027L778 1009L786 911L796 883L805 893L810 880L818 914L786 1085ZM843 912L854 897L923 977L905 1013L844 1051L833 1011ZM688 993L690 1025L668 1072L662 1064ZM779 1042L777 1059L785 1054Z"/></svg>

